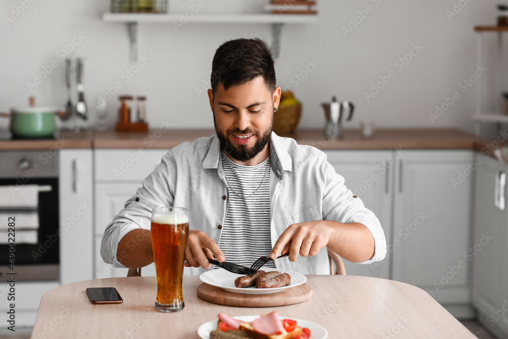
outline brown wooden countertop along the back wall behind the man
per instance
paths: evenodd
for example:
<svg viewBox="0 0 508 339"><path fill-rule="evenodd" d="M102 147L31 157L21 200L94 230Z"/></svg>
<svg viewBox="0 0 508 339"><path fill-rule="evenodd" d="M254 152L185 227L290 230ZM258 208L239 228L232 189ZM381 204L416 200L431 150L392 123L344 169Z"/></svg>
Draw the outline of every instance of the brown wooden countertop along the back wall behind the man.
<svg viewBox="0 0 508 339"><path fill-rule="evenodd" d="M57 140L1 140L0 150L50 148L146 148L169 149L199 137L215 133L212 129L150 130L148 132L116 132L114 130L80 133L61 131ZM345 130L341 139L323 136L321 129L302 129L292 135L299 144L320 149L475 149L497 146L493 140L457 129L379 129L370 138L360 130ZM495 148L495 147L493 147Z"/></svg>

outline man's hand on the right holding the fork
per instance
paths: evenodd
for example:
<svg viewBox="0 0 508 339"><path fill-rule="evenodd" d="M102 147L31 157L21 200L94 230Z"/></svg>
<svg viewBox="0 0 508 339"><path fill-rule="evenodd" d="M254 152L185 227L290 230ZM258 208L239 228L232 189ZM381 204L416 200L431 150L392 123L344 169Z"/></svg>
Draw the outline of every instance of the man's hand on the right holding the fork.
<svg viewBox="0 0 508 339"><path fill-rule="evenodd" d="M298 255L316 256L328 244L331 235L332 230L326 220L292 224L275 242L270 258L275 259L288 250L289 260L292 262L298 259Z"/></svg>

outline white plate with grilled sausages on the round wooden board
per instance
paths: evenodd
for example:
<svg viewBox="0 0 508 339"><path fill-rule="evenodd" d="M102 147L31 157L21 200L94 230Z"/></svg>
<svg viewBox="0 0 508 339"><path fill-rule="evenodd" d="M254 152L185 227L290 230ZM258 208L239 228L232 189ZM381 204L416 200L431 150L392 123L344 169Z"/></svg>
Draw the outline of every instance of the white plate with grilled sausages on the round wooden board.
<svg viewBox="0 0 508 339"><path fill-rule="evenodd" d="M199 279L225 291L242 294L276 293L307 281L301 273L277 268L266 268L252 276L231 273L225 269L213 269L202 273Z"/></svg>

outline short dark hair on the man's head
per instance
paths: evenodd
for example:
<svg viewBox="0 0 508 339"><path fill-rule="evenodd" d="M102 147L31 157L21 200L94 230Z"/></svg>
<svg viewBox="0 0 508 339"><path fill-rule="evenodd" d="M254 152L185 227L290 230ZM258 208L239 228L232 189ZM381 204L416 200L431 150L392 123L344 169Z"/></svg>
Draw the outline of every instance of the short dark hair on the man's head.
<svg viewBox="0 0 508 339"><path fill-rule="evenodd" d="M225 42L215 51L210 84L212 92L217 84L228 90L262 76L270 91L275 90L275 68L270 47L263 40L236 39Z"/></svg>

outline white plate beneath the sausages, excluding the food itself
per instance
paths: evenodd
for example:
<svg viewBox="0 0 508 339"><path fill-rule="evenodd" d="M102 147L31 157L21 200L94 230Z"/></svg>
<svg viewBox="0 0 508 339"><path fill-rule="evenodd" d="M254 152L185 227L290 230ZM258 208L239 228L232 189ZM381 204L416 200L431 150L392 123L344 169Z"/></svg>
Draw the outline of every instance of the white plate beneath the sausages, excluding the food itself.
<svg viewBox="0 0 508 339"><path fill-rule="evenodd" d="M241 274L235 274L231 273L230 271L227 271L223 268L218 269L212 269L209 271L206 271L204 273L201 273L199 276L199 279L203 283L206 283L208 285L220 287L221 289L233 292L233 293L242 293L242 294L268 294L268 293L276 293L281 292L285 289L295 287L298 285L301 285L307 281L307 278L305 275L295 272L295 271L288 271L278 268L266 268L264 271L270 272L270 271L279 271L281 273L288 273L291 275L291 283L284 287L275 287L275 288L257 288L256 286L251 286L247 288L238 288L235 287L235 279L239 276L242 276Z"/></svg>

